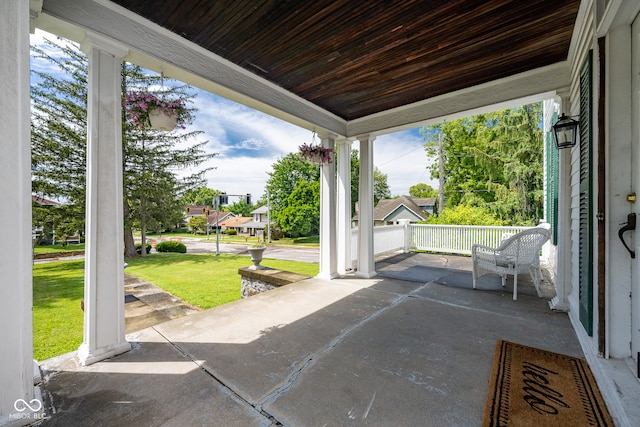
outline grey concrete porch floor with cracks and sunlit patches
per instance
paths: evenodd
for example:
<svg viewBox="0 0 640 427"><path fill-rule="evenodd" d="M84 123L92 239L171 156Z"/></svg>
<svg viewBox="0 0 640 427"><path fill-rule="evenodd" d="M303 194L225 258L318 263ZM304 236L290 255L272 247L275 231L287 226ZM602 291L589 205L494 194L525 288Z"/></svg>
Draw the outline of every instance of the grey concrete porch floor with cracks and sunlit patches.
<svg viewBox="0 0 640 427"><path fill-rule="evenodd" d="M45 361L59 426L477 426L496 341L582 356L566 314L520 276L471 289L470 258L402 254L379 276L317 278L128 335L81 367Z"/></svg>

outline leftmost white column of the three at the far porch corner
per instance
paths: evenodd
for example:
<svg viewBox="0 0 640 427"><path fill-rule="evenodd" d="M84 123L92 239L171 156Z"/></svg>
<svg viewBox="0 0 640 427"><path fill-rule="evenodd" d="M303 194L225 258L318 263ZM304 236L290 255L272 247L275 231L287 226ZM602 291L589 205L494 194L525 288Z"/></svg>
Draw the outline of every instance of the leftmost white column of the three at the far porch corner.
<svg viewBox="0 0 640 427"><path fill-rule="evenodd" d="M334 136L321 136L324 148L335 150ZM335 158L335 153L334 156ZM335 162L320 166L320 273L318 277L338 277L336 245L336 167Z"/></svg>

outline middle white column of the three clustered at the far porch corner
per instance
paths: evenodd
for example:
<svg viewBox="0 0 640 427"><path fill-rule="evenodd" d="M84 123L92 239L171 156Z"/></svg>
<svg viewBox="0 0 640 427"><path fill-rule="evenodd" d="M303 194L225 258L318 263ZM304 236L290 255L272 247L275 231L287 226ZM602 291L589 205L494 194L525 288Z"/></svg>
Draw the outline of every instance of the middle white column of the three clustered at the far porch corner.
<svg viewBox="0 0 640 427"><path fill-rule="evenodd" d="M351 259L351 141L338 141L338 273L345 274Z"/></svg>

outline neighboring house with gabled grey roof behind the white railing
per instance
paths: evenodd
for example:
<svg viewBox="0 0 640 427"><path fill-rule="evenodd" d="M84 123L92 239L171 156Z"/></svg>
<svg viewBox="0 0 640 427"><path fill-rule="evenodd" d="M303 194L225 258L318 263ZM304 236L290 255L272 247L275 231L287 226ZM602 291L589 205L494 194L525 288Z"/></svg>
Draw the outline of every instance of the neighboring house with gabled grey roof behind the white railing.
<svg viewBox="0 0 640 427"><path fill-rule="evenodd" d="M434 198L424 199L411 196L400 196L395 199L384 199L373 209L374 225L397 224L401 219L409 222L426 221L433 212ZM425 207L431 209L427 211ZM358 223L359 215L353 217L354 224Z"/></svg>

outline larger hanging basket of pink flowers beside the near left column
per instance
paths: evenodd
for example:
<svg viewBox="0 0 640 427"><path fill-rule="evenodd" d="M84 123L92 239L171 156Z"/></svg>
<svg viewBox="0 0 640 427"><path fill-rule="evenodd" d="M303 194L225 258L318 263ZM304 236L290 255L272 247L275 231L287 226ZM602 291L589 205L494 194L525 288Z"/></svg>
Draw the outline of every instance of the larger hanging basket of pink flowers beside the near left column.
<svg viewBox="0 0 640 427"><path fill-rule="evenodd" d="M128 92L123 107L127 119L138 129L172 131L176 126L185 129L192 116L183 98L168 100L149 92Z"/></svg>

